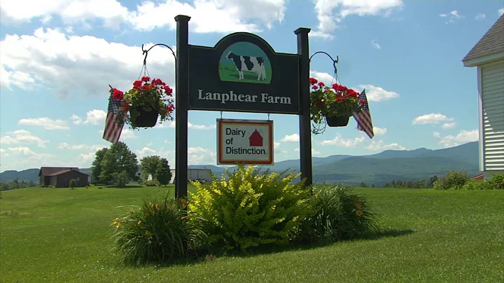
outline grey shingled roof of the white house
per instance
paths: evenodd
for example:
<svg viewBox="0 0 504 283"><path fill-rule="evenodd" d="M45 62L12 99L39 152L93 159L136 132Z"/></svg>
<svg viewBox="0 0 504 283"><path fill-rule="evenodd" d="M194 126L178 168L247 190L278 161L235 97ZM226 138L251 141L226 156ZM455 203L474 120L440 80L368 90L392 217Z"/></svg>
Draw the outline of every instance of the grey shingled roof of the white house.
<svg viewBox="0 0 504 283"><path fill-rule="evenodd" d="M504 14L500 15L497 22L479 39L474 47L463 58L462 62L480 57L504 52Z"/></svg>

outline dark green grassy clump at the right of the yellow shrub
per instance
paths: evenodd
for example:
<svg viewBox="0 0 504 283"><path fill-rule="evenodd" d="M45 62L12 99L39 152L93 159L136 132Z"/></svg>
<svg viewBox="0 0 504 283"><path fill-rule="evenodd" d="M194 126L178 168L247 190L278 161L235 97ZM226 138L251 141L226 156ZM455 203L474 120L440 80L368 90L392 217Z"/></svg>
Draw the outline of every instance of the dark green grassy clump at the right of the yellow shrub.
<svg viewBox="0 0 504 283"><path fill-rule="evenodd" d="M314 194L309 202L313 213L303 219L298 240L349 240L378 228L365 195L343 185L316 188Z"/></svg>

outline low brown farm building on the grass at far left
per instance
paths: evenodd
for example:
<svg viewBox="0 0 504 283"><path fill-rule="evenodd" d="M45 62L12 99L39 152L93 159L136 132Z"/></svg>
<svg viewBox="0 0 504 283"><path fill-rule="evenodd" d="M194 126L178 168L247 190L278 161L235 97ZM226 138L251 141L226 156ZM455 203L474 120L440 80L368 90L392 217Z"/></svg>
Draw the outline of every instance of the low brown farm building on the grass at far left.
<svg viewBox="0 0 504 283"><path fill-rule="evenodd" d="M57 188L68 188L71 179L76 179L78 187L87 186L90 181L90 176L80 172L77 167L41 167L38 178L42 186Z"/></svg>

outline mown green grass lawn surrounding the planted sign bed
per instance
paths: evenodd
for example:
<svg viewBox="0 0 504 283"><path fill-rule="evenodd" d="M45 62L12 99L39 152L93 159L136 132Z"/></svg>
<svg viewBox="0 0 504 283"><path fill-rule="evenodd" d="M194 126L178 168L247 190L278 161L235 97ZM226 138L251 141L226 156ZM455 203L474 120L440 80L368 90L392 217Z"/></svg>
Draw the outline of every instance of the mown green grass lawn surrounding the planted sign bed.
<svg viewBox="0 0 504 283"><path fill-rule="evenodd" d="M193 188L191 188L193 189ZM357 188L385 237L123 267L111 221L173 188L22 188L0 200L1 282L503 282L504 191Z"/></svg>

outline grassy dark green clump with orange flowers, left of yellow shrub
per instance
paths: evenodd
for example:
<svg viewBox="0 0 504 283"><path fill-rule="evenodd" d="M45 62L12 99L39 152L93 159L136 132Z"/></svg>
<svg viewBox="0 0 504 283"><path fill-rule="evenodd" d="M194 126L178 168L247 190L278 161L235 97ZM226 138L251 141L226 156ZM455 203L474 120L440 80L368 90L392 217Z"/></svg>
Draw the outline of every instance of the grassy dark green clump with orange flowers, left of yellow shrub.
<svg viewBox="0 0 504 283"><path fill-rule="evenodd" d="M123 263L163 263L188 256L204 233L197 218L188 213L185 199L145 200L112 225L116 256Z"/></svg>

